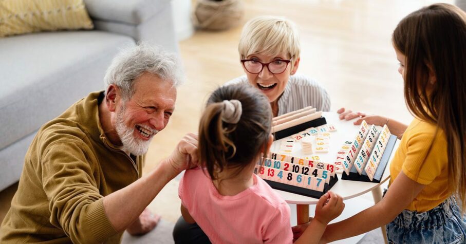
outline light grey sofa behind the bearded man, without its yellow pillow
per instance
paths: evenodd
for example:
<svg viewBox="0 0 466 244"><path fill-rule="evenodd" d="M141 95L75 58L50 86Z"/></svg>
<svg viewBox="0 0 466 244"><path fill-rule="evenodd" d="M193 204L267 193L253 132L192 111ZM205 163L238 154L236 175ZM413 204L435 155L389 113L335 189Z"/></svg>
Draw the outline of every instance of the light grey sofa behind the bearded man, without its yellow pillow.
<svg viewBox="0 0 466 244"><path fill-rule="evenodd" d="M21 175L37 130L104 89L121 47L147 41L178 51L170 0L85 0L95 30L0 38L0 191Z"/></svg>

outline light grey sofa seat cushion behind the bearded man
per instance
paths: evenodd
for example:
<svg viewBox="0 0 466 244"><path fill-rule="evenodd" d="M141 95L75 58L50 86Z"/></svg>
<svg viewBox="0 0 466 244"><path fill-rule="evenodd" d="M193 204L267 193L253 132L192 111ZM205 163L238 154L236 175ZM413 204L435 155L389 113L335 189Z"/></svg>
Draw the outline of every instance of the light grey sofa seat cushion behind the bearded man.
<svg viewBox="0 0 466 244"><path fill-rule="evenodd" d="M90 91L128 36L100 31L42 32L0 39L0 148L31 134Z"/></svg>

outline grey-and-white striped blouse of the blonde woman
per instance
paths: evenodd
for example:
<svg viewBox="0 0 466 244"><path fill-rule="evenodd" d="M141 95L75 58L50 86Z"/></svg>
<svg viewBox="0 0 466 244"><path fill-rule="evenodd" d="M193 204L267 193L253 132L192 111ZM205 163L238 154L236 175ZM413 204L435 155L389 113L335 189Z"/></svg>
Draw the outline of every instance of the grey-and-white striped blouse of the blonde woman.
<svg viewBox="0 0 466 244"><path fill-rule="evenodd" d="M235 78L225 85L249 83L246 75ZM330 110L330 97L327 91L314 79L302 74L290 76L281 97L278 98L278 116L312 106L318 111Z"/></svg>

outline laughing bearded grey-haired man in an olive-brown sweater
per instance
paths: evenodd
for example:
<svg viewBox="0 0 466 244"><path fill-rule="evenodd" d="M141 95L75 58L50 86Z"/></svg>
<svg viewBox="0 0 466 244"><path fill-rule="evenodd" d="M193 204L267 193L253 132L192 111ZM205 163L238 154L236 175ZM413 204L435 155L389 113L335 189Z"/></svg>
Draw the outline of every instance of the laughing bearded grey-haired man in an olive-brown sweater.
<svg viewBox="0 0 466 244"><path fill-rule="evenodd" d="M90 93L39 130L0 228L1 243L120 242L156 220L146 206L197 162L197 136L141 178L148 145L170 120L180 84L172 54L147 45L120 53L106 90Z"/></svg>

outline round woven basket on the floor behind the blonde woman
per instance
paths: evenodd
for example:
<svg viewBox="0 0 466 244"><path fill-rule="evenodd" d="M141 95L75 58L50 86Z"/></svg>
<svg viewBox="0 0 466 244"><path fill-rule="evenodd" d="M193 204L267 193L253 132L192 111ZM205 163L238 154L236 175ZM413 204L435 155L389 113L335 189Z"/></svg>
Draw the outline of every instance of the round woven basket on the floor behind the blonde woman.
<svg viewBox="0 0 466 244"><path fill-rule="evenodd" d="M244 15L241 0L198 0L193 12L197 28L205 30L226 30L239 24Z"/></svg>

